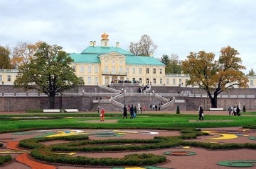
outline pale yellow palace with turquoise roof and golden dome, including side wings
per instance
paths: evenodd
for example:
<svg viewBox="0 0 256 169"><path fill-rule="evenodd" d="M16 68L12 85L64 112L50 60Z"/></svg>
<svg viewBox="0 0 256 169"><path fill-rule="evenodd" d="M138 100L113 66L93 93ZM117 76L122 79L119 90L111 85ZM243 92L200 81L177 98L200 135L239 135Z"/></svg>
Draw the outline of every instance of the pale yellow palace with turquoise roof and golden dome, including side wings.
<svg viewBox="0 0 256 169"><path fill-rule="evenodd" d="M70 65L75 74L83 78L86 85L110 85L129 82L151 86L183 86L189 76L185 74L166 74L165 65L152 56L135 56L119 47L116 42L110 46L109 35L101 35L101 45L90 41L81 53L71 53L74 62ZM18 76L17 69L1 69L0 85L13 85ZM256 76L247 76L248 88L256 88ZM192 86L188 86L192 87ZM197 87L197 86L193 86Z"/></svg>

